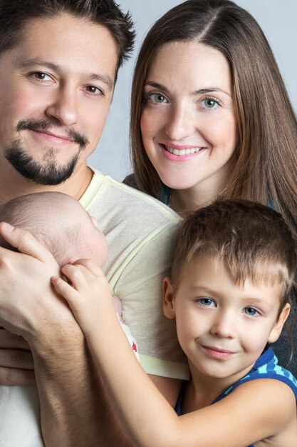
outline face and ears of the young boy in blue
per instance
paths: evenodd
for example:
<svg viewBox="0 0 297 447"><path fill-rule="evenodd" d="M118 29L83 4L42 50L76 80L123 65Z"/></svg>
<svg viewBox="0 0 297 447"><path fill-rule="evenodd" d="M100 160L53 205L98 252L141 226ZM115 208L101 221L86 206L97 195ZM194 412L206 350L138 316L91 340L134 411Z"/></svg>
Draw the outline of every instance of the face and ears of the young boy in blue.
<svg viewBox="0 0 297 447"><path fill-rule="evenodd" d="M286 305L277 318L279 283L247 278L241 286L224 262L207 256L184 267L173 298L171 290L168 282L165 314L176 318L193 379L220 378L224 386L248 373L266 343L276 341L289 311Z"/></svg>

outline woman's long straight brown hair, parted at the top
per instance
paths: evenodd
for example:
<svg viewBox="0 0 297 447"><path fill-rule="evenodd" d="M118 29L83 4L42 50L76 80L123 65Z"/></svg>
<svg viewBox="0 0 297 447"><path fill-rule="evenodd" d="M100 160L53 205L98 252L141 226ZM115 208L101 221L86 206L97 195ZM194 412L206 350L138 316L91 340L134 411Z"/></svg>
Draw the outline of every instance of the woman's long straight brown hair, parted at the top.
<svg viewBox="0 0 297 447"><path fill-rule="evenodd" d="M244 9L228 0L188 0L170 9L147 34L132 84L130 141L137 186L151 196L162 183L140 133L142 92L161 46L197 41L229 61L237 120L232 169L221 197L270 204L297 239L297 122L276 60L263 31Z"/></svg>

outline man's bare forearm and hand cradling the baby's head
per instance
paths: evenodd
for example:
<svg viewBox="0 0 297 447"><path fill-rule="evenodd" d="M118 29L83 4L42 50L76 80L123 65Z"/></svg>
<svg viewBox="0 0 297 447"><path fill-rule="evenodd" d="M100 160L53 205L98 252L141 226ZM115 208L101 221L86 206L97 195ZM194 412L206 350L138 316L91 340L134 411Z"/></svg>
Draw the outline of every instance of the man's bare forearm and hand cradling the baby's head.
<svg viewBox="0 0 297 447"><path fill-rule="evenodd" d="M50 253L26 231L7 234L0 224L0 233L31 255L0 248L0 324L24 336L32 349L46 446L130 446L95 373L83 333L66 303L53 293L50 278L57 266ZM157 381L176 400L171 379Z"/></svg>

